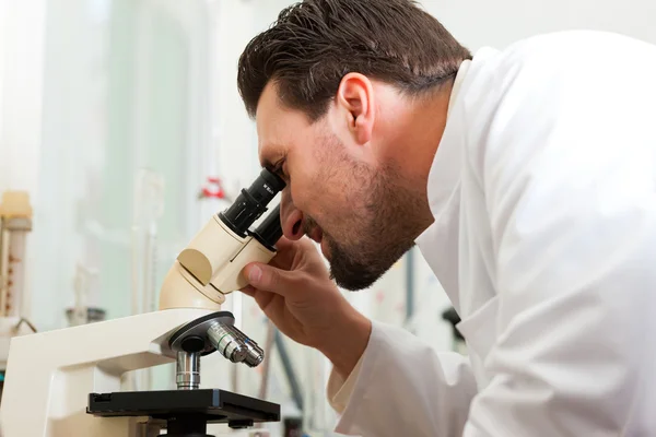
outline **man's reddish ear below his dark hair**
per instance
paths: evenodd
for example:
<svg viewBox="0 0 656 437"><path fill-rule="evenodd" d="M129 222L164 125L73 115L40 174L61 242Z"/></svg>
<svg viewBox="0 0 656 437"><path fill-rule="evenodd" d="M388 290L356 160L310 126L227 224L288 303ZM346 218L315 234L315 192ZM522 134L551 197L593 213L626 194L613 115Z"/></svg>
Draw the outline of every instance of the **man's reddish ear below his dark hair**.
<svg viewBox="0 0 656 437"><path fill-rule="evenodd" d="M372 139L375 119L374 88L363 74L344 75L337 91L336 106L339 117L344 117L353 140L364 145Z"/></svg>

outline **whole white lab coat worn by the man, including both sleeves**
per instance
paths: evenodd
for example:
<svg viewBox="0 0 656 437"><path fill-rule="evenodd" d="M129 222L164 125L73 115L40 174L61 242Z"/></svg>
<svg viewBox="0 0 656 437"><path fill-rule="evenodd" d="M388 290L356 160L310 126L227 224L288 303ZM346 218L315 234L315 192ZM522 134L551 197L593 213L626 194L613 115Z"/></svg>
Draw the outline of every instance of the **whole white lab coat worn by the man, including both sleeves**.
<svg viewBox="0 0 656 437"><path fill-rule="evenodd" d="M465 66L417 243L470 357L374 322L337 432L656 436L656 47L567 32Z"/></svg>

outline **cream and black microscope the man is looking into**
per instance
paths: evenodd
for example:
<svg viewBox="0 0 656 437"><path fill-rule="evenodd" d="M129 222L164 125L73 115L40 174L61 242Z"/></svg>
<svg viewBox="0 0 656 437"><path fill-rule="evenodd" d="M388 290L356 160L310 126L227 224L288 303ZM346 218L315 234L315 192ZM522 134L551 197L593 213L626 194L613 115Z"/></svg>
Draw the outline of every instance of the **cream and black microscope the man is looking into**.
<svg viewBox="0 0 656 437"><path fill-rule="evenodd" d="M263 169L178 255L157 311L12 339L0 403L3 437L210 437L208 423L248 428L280 421L280 405L200 387L203 356L258 366L263 352L221 311L246 286L243 268L269 262L282 236L279 208L251 228L284 188ZM120 391L127 371L176 363L177 390Z"/></svg>

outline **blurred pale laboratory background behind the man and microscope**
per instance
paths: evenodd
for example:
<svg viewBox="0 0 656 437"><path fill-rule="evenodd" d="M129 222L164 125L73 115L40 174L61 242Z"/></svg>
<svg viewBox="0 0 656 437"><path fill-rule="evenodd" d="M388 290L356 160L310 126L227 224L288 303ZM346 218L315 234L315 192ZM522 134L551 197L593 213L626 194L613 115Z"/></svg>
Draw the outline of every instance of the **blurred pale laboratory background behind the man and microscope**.
<svg viewBox="0 0 656 437"><path fill-rule="evenodd" d="M0 0L0 192L30 193L23 308L39 331L74 324L75 306L92 308L97 319L156 309L178 251L227 204L213 192L236 192L259 172L236 63L246 43L290 3ZM653 0L423 4L471 50L569 28L656 43ZM449 303L419 252L349 298L437 350L457 347L443 318ZM249 298L231 295L225 308L260 345L274 340L269 363L236 370L209 357L203 387L263 393L282 405L283 417L303 422L307 435L331 435L329 364L273 335ZM133 383L169 389L175 379L163 366ZM283 423L267 428L284 433Z"/></svg>

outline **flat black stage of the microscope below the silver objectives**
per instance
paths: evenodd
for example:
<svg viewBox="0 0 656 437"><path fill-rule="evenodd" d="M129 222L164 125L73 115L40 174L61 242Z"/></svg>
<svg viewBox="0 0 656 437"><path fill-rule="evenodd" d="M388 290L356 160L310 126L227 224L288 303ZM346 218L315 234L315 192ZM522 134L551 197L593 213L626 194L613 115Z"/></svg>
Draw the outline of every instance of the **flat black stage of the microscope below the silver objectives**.
<svg viewBox="0 0 656 437"><path fill-rule="evenodd" d="M150 416L166 421L202 416L207 423L227 423L231 428L280 421L279 404L218 389L91 393L86 412L101 417Z"/></svg>

